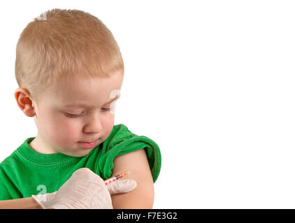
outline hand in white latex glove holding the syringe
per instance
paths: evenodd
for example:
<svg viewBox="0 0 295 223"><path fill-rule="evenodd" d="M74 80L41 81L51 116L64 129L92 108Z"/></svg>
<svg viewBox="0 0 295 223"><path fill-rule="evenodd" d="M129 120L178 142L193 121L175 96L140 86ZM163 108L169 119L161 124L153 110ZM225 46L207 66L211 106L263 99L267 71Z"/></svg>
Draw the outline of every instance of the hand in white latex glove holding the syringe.
<svg viewBox="0 0 295 223"><path fill-rule="evenodd" d="M117 180L105 185L100 176L81 168L57 192L32 197L43 209L112 209L110 194L130 192L135 187L135 180Z"/></svg>

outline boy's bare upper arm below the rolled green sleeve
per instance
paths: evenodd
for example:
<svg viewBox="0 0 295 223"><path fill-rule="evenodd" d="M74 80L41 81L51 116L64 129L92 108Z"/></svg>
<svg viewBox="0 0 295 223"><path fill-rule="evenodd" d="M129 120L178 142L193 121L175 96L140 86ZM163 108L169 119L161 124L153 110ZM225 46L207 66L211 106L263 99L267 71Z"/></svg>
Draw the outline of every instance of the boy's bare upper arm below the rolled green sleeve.
<svg viewBox="0 0 295 223"><path fill-rule="evenodd" d="M115 157L113 176L128 170L132 171L131 174L122 178L122 180L136 180L137 186L131 192L111 195L113 208L152 208L154 203L154 182L143 149Z"/></svg>

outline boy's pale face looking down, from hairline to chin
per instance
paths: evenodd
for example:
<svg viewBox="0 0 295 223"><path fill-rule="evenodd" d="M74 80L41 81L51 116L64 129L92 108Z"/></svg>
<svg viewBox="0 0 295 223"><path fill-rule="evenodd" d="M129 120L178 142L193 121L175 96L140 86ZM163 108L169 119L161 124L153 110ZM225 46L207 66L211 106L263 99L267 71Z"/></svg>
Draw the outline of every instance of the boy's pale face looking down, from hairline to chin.
<svg viewBox="0 0 295 223"><path fill-rule="evenodd" d="M41 153L87 155L113 130L114 113L108 109L114 102L108 102L120 96L122 80L122 73L117 72L109 78L60 82L56 92L45 93L38 106L33 103L38 135L30 146ZM80 103L85 107L75 106ZM85 148L78 144L81 141L96 143Z"/></svg>

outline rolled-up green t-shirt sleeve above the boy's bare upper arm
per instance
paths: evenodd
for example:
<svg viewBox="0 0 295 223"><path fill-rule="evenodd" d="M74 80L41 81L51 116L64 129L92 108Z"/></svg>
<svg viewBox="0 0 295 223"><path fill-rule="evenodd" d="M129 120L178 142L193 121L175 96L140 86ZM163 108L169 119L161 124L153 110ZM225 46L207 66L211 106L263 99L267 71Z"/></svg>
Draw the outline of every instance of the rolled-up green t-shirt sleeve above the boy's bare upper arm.
<svg viewBox="0 0 295 223"><path fill-rule="evenodd" d="M141 148L145 150L152 178L155 182L161 169L161 153L159 146L148 137L138 136L130 132L123 124L114 125L110 136L103 142L102 155L99 158L98 165L100 176L103 179L112 176L112 169L114 167L113 160L116 156L137 151Z"/></svg>

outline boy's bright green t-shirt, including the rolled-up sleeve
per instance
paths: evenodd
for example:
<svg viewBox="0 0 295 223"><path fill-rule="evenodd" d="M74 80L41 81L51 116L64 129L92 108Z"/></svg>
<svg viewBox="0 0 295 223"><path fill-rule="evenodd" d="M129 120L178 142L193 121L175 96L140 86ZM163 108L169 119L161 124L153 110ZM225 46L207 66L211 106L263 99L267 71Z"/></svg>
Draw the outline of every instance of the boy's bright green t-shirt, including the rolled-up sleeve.
<svg viewBox="0 0 295 223"><path fill-rule="evenodd" d="M106 180L112 176L113 160L117 155L141 148L145 149L154 182L161 169L159 146L152 139L130 132L123 124L114 125L108 139L84 157L38 153L29 146L34 138L26 139L0 163L0 200L55 192L82 167L91 169Z"/></svg>

